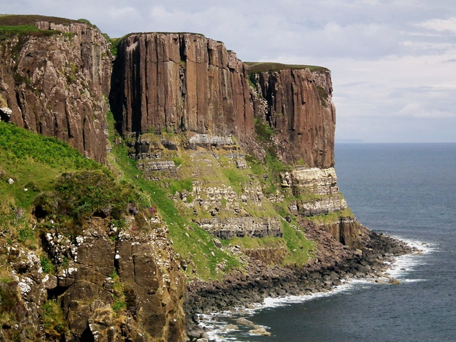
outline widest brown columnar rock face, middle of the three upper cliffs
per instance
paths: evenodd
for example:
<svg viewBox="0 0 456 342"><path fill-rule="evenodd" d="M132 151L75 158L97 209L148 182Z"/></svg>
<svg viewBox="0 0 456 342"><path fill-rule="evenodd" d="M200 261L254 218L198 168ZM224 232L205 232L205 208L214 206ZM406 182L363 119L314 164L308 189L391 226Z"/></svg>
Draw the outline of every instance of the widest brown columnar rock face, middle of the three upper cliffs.
<svg viewBox="0 0 456 342"><path fill-rule="evenodd" d="M119 56L111 101L124 134L254 132L245 66L221 42L191 33L130 35Z"/></svg>

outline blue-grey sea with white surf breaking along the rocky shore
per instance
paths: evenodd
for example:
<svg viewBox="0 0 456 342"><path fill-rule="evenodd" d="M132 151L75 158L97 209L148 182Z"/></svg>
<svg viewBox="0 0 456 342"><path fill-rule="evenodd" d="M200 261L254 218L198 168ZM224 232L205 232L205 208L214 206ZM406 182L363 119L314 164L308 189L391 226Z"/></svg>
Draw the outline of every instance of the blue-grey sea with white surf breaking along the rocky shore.
<svg viewBox="0 0 456 342"><path fill-rule="evenodd" d="M421 253L397 258L400 285L356 279L312 296L267 298L202 317L216 341L456 341L456 144L336 144L339 189L366 227ZM251 328L224 331L243 316Z"/></svg>

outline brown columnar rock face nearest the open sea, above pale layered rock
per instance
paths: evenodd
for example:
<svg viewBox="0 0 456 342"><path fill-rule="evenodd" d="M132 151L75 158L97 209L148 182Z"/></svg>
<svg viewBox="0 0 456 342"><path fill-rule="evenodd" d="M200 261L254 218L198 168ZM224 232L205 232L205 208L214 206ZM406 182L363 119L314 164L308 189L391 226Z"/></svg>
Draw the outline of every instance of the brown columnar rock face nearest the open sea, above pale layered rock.
<svg viewBox="0 0 456 342"><path fill-rule="evenodd" d="M284 162L302 160L310 167L334 166L336 111L330 71L287 68L251 75L266 100L266 122Z"/></svg>

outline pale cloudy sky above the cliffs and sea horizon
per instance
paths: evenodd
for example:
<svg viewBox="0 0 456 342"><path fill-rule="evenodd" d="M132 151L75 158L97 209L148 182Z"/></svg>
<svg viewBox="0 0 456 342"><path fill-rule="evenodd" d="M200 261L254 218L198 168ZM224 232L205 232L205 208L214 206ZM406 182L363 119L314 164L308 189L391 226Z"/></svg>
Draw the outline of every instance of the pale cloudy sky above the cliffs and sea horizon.
<svg viewBox="0 0 456 342"><path fill-rule="evenodd" d="M0 0L111 37L198 32L243 61L332 71L336 141L456 142L456 0Z"/></svg>

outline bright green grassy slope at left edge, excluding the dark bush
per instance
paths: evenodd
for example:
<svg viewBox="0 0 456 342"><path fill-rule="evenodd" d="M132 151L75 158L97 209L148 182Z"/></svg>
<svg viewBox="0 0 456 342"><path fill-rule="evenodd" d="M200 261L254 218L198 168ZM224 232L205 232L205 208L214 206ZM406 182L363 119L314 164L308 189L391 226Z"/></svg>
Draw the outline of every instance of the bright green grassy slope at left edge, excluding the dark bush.
<svg viewBox="0 0 456 342"><path fill-rule="evenodd" d="M0 242L35 248L29 220L39 194L51 191L61 173L101 169L65 142L0 122Z"/></svg>

